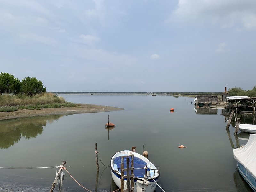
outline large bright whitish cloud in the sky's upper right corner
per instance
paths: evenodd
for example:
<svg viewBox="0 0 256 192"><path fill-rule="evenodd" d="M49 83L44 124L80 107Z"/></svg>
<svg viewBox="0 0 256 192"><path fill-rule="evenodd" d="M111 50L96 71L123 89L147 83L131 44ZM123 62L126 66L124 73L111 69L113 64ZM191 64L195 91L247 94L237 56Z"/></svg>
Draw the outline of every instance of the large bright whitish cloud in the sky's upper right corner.
<svg viewBox="0 0 256 192"><path fill-rule="evenodd" d="M177 9L170 21L211 21L219 23L222 28L243 26L246 29L256 28L255 0L179 0Z"/></svg>

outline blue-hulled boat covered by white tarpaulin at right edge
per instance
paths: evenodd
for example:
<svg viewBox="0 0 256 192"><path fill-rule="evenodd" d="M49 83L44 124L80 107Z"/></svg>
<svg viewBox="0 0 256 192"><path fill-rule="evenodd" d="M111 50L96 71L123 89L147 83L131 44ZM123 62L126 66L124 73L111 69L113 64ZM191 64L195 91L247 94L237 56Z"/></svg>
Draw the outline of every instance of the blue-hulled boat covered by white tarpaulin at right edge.
<svg viewBox="0 0 256 192"><path fill-rule="evenodd" d="M247 144L233 149L233 155L237 161L239 173L256 191L256 135L250 134Z"/></svg>

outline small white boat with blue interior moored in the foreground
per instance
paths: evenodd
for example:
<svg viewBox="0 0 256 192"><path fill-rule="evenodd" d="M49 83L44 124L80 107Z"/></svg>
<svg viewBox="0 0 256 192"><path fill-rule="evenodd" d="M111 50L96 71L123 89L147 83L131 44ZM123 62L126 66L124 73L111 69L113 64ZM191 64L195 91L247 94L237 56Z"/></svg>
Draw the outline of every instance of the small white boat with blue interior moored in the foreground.
<svg viewBox="0 0 256 192"><path fill-rule="evenodd" d="M111 175L116 185L121 188L121 156L134 155L133 174L134 174L134 192L153 192L156 188L159 178L159 169L151 163L146 157L130 150L117 152L111 158ZM127 157L128 158L128 157ZM124 169L126 169L126 158ZM129 156L129 167L131 167L131 156ZM145 176L146 173L146 176ZM129 173L130 174L130 173ZM127 172L124 172L127 175ZM127 189L127 179L124 179L124 190ZM130 182L129 182L130 186ZM142 190L144 188L144 191Z"/></svg>

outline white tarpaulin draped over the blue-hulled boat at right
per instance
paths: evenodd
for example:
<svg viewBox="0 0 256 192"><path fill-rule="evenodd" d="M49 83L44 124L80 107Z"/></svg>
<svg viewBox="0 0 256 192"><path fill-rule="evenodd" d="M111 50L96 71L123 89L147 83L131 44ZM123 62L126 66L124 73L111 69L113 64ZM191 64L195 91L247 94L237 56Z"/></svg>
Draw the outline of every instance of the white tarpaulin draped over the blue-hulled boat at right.
<svg viewBox="0 0 256 192"><path fill-rule="evenodd" d="M242 164L256 178L256 135L250 134L243 148L233 149L234 159Z"/></svg>

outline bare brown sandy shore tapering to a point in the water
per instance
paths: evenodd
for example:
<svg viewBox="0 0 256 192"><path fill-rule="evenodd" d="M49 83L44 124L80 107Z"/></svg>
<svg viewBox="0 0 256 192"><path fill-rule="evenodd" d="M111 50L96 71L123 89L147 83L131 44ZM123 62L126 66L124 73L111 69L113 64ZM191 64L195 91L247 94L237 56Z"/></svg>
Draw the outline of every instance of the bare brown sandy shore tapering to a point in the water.
<svg viewBox="0 0 256 192"><path fill-rule="evenodd" d="M0 120L16 119L21 117L35 117L35 116L49 116L49 115L70 115L76 113L98 113L107 111L124 110L124 108L91 105L91 104L77 104L77 107L61 107L61 108L43 108L41 110L22 109L12 112L0 112Z"/></svg>

